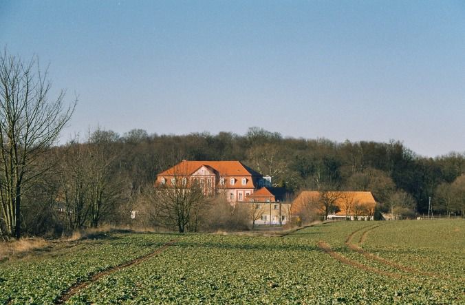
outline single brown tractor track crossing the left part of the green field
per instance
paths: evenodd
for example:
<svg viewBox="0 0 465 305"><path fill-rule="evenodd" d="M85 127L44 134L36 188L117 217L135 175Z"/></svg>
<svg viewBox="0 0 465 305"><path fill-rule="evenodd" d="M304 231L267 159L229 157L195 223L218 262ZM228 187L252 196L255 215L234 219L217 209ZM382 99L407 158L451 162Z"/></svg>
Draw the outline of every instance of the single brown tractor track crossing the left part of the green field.
<svg viewBox="0 0 465 305"><path fill-rule="evenodd" d="M100 277L104 277L105 275L109 275L111 273L115 273L117 271L121 271L123 269L126 269L126 268L128 268L130 266L135 266L137 264L145 262L146 260L149 260L151 257L162 253L164 250L166 250L166 248L168 248L169 246L175 244L175 242L176 242L176 240L171 240L170 242L166 242L162 246L158 247L155 251L152 251L151 253L149 253L147 255L143 255L143 256L138 257L138 258L136 258L134 260L131 260L129 262L125 262L125 263L120 264L118 266L111 267L111 268L109 268L107 270L100 271L100 272L92 275L91 277L89 277L89 279L85 280L85 282L78 282L78 283L74 284L67 291L62 293L60 295L60 297L58 297L55 300L54 304L65 304L65 302L67 302L67 300L69 298L71 298L73 295L76 295L77 293L79 293L79 291L81 291L85 287L89 286L89 284L92 284L93 282L98 281L100 279Z"/></svg>

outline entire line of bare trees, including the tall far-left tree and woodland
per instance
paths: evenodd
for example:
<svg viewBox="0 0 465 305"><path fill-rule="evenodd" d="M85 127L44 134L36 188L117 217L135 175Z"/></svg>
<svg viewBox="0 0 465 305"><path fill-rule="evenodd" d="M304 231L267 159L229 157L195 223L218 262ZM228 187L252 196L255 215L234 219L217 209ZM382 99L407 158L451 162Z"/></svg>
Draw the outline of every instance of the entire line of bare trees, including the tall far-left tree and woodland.
<svg viewBox="0 0 465 305"><path fill-rule="evenodd" d="M97 128L53 145L72 115L64 94L49 98L50 82L36 61L0 59L0 234L61 234L101 224L131 224L147 202L157 173L186 160L240 160L272 177L273 186L371 191L378 209L405 217L464 216L465 154L418 156L398 140L337 143L283 137L260 127L186 135L125 134Z"/></svg>

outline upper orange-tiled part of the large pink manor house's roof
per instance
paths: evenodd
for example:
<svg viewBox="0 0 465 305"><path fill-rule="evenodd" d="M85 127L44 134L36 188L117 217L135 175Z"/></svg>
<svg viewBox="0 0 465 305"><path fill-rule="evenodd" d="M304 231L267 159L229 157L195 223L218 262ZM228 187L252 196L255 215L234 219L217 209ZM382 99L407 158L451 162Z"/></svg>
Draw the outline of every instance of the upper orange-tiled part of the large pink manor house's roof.
<svg viewBox="0 0 465 305"><path fill-rule="evenodd" d="M218 171L219 176L261 176L260 173L243 165L239 161L187 161L183 160L177 165L162 171L158 176L191 176L202 166Z"/></svg>

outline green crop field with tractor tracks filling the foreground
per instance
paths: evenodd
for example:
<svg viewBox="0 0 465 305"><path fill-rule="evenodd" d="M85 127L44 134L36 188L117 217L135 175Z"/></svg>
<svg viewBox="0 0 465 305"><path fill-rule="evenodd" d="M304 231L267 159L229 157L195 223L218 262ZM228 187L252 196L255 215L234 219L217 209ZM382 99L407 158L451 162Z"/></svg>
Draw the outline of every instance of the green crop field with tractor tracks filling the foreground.
<svg viewBox="0 0 465 305"><path fill-rule="evenodd" d="M465 221L113 233L0 264L0 304L464 304Z"/></svg>

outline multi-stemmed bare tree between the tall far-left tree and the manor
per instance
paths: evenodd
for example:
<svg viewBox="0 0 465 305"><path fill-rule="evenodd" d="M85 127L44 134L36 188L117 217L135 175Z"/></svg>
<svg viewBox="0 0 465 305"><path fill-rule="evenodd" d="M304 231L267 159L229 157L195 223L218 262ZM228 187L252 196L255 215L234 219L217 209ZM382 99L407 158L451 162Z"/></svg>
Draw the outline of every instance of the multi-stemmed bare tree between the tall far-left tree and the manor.
<svg viewBox="0 0 465 305"><path fill-rule="evenodd" d="M58 199L70 230L98 227L102 221L111 220L118 204L127 197L125 191L129 193L116 166L118 152L111 146L114 137L109 134L113 132L97 129L86 143L75 139L60 151Z"/></svg>

